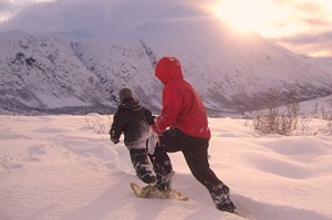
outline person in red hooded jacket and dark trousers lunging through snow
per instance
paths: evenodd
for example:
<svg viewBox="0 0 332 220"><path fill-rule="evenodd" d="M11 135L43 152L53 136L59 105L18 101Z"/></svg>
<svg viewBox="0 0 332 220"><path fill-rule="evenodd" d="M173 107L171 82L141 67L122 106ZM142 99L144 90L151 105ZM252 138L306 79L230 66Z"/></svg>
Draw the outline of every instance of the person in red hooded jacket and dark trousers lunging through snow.
<svg viewBox="0 0 332 220"><path fill-rule="evenodd" d="M211 134L206 109L195 88L184 80L179 61L172 55L162 57L157 62L155 75L165 85L162 114L152 125L152 130L159 136L156 148L167 153L183 151L191 174L208 189L216 207L221 211L235 212L229 188L209 167ZM170 181L172 178L157 175L156 187L159 184L169 186Z"/></svg>

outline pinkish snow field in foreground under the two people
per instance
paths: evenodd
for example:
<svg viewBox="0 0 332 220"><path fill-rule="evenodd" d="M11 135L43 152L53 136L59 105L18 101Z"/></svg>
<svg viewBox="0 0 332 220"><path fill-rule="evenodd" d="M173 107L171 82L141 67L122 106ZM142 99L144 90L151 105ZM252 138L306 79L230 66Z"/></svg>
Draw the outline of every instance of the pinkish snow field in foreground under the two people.
<svg viewBox="0 0 332 220"><path fill-rule="evenodd" d="M92 130L87 117L107 129L112 121L97 114L0 116L1 220L242 219L215 208L179 153L169 155L173 187L190 200L136 198L129 182L143 182L123 142L113 145L107 130ZM209 125L210 166L230 187L241 216L332 218L331 136L262 137L235 118L209 118Z"/></svg>

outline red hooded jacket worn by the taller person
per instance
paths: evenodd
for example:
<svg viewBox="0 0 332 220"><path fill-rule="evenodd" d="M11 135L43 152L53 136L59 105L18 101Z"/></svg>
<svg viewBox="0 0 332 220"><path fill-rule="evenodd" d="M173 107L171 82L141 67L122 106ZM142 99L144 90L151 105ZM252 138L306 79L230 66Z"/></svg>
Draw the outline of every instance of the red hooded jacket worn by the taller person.
<svg viewBox="0 0 332 220"><path fill-rule="evenodd" d="M194 87L184 80L179 61L174 56L162 57L155 75L165 87L162 115L156 118L153 130L159 134L175 126L187 135L210 138L205 106Z"/></svg>

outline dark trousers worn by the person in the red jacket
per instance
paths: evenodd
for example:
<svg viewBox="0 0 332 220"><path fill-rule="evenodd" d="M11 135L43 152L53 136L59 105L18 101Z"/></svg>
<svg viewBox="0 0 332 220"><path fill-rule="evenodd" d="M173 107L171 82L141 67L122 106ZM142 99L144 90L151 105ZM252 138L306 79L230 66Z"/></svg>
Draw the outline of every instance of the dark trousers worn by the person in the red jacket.
<svg viewBox="0 0 332 220"><path fill-rule="evenodd" d="M177 128L170 128L160 135L159 145L167 153L181 151L194 177L210 193L216 188L225 186L210 169L208 163L209 139L193 137Z"/></svg>

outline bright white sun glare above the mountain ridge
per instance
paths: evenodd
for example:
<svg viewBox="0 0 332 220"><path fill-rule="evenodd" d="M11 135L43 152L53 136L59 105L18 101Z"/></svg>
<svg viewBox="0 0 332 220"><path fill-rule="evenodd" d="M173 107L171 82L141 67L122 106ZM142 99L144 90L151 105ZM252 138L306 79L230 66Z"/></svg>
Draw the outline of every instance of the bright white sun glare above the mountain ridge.
<svg viewBox="0 0 332 220"><path fill-rule="evenodd" d="M238 31L255 31L263 35L273 35L271 24L278 24L288 14L271 1L217 1L210 9Z"/></svg>

